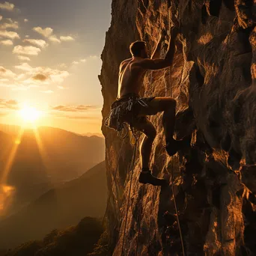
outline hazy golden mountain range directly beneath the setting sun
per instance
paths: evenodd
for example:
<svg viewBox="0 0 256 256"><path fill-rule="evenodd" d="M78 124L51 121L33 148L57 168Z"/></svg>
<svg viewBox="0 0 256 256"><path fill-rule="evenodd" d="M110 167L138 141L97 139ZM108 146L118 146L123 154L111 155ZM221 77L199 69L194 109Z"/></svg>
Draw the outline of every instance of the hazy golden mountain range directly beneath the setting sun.
<svg viewBox="0 0 256 256"><path fill-rule="evenodd" d="M26 129L21 138L19 132L20 127L0 124L0 182L15 189L5 216L43 192L79 177L105 158L104 139L97 136L51 127L39 127L37 132ZM4 172L7 180L3 180ZM0 188L0 208L1 196ZM0 219L3 213L0 209Z"/></svg>

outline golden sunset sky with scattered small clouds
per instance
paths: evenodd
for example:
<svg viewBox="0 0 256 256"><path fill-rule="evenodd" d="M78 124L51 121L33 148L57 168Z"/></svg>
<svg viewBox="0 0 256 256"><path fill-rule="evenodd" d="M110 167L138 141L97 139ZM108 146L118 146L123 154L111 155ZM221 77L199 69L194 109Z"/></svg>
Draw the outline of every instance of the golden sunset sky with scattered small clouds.
<svg viewBox="0 0 256 256"><path fill-rule="evenodd" d="M23 124L26 107L37 125L100 132L110 20L111 0L0 1L0 123Z"/></svg>

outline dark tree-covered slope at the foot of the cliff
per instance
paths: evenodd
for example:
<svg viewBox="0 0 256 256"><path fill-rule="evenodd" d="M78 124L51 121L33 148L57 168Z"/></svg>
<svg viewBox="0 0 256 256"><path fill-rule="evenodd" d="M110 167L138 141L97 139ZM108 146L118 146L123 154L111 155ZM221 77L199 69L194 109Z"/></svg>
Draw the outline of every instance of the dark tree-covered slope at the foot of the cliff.
<svg viewBox="0 0 256 256"><path fill-rule="evenodd" d="M100 219L86 217L64 231L53 230L42 241L23 243L5 256L85 256L103 234Z"/></svg>

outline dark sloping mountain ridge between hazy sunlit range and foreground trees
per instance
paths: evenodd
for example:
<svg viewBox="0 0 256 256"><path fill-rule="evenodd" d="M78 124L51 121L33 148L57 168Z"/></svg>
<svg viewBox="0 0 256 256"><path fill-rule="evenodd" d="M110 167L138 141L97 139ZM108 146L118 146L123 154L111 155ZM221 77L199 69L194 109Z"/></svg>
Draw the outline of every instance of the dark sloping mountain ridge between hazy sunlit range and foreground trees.
<svg viewBox="0 0 256 256"><path fill-rule="evenodd" d="M101 162L81 177L41 195L0 222L0 249L40 240L55 228L76 225L85 216L102 217L106 209L106 165Z"/></svg>

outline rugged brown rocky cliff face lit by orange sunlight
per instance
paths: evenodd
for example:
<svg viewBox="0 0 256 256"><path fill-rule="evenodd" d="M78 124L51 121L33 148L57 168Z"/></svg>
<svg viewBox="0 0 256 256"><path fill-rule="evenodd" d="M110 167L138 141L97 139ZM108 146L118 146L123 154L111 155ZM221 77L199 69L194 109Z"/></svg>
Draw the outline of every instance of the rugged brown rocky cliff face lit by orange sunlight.
<svg viewBox="0 0 256 256"><path fill-rule="evenodd" d="M254 13L252 0L112 1L100 75L103 118L117 95L118 67L129 58L129 44L143 39L153 49L161 29L178 20L182 33L171 72L147 73L141 94L172 95L177 100L176 137L191 134L192 143L169 157L163 147L162 114L150 118L158 132L150 166L170 186L145 186L142 198L138 152L132 176L129 139L121 147L116 132L103 127L111 198L109 255L121 255L123 239L124 255L135 255L137 241L138 255L182 255L171 168L186 255L256 255Z"/></svg>

